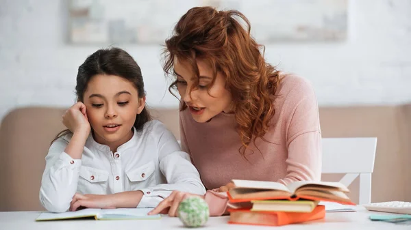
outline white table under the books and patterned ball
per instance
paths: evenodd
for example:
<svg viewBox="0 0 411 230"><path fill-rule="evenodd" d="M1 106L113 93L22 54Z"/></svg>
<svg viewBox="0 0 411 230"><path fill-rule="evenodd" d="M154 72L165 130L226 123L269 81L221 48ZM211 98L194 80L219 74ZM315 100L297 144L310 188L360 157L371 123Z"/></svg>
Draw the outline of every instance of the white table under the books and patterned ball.
<svg viewBox="0 0 411 230"><path fill-rule="evenodd" d="M184 229L182 222L178 218L169 218L162 216L160 220L57 220L36 222L40 212L0 212L0 230L144 230L144 229ZM384 214L377 212L367 212L359 210L358 212L336 212L327 213L324 220L315 220L303 224L286 225L275 227L275 229L303 229L303 230L321 230L321 229L349 229L349 230L366 230L366 229L408 229L411 225L395 225L388 222L375 222L369 220L370 214ZM230 225L227 224L229 216L212 217L208 220L206 227L203 229L273 229L273 227L260 227L251 225Z"/></svg>

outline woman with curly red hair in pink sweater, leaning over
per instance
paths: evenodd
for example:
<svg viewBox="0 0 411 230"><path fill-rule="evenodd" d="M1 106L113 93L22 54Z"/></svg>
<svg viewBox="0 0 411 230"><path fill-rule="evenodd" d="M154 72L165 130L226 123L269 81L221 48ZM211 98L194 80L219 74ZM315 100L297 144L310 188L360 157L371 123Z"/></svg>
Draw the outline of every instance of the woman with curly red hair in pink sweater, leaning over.
<svg viewBox="0 0 411 230"><path fill-rule="evenodd" d="M245 25L246 27L243 27ZM264 61L236 10L188 10L166 40L164 71L181 96L182 149L208 189L212 215L225 211L231 179L288 184L321 177L321 130L312 86ZM170 207L186 192L173 192L153 210Z"/></svg>

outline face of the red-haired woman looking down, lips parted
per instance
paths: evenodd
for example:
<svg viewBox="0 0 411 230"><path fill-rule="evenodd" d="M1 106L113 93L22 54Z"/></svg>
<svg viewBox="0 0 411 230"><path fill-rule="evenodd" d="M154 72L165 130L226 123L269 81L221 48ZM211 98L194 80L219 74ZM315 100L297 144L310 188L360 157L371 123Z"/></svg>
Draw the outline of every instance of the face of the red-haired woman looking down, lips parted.
<svg viewBox="0 0 411 230"><path fill-rule="evenodd" d="M192 118L197 122L206 122L221 112L232 112L232 94L225 88L225 78L217 73L214 85L212 68L204 61L198 60L199 85L190 91L195 84L195 75L190 66L174 59L174 72L177 76L177 89L182 100L187 104Z"/></svg>

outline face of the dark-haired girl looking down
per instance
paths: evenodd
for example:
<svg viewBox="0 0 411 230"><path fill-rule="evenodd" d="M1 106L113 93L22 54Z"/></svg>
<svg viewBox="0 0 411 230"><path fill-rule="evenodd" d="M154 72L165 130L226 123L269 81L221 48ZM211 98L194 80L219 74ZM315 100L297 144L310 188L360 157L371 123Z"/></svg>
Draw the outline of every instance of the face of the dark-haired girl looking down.
<svg viewBox="0 0 411 230"><path fill-rule="evenodd" d="M113 150L132 138L145 97L139 98L136 87L125 78L98 74L88 82L84 104L95 141Z"/></svg>

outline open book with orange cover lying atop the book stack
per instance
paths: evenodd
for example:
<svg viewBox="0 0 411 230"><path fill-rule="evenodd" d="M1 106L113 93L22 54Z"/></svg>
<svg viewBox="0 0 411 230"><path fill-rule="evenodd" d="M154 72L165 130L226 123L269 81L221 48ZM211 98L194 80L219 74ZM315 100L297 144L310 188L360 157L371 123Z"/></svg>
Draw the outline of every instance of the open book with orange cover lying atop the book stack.
<svg viewBox="0 0 411 230"><path fill-rule="evenodd" d="M307 199L354 205L346 195L349 192L348 188L340 182L293 182L288 186L277 182L242 179L233 179L232 182L234 188L227 192L232 203L252 200Z"/></svg>

